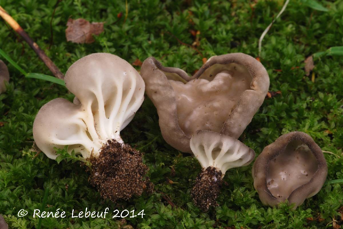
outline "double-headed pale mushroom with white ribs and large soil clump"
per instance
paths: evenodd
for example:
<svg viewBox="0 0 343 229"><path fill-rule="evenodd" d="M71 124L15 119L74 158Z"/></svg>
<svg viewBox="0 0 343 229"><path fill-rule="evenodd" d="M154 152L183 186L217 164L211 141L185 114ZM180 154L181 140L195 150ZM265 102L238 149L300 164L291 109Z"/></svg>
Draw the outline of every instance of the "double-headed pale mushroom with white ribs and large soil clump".
<svg viewBox="0 0 343 229"><path fill-rule="evenodd" d="M90 182L112 201L152 191L142 153L124 144L120 131L144 100L144 81L125 60L94 53L70 66L64 78L74 102L45 104L33 124L33 137L49 158L55 148L82 154L92 163Z"/></svg>

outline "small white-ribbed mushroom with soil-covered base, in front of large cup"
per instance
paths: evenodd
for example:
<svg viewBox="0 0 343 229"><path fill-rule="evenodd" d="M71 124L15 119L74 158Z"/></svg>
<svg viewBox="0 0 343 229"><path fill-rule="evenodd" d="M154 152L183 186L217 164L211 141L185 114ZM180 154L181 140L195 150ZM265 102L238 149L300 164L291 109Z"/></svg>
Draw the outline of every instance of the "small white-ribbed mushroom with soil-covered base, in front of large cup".
<svg viewBox="0 0 343 229"><path fill-rule="evenodd" d="M235 138L209 130L198 130L190 139L190 148L202 166L191 195L205 212L216 205L225 172L250 164L255 152Z"/></svg>

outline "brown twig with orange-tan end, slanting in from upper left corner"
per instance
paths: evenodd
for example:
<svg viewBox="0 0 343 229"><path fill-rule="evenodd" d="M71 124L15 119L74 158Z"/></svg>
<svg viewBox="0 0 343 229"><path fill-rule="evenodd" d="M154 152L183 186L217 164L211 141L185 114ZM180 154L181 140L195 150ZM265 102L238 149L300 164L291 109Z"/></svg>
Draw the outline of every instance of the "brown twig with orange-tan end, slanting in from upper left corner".
<svg viewBox="0 0 343 229"><path fill-rule="evenodd" d="M39 58L45 63L45 65L50 69L52 74L57 78L63 79L64 75L58 69L58 67L48 58L42 49L39 48L38 44L34 42L24 31L22 27L11 17L1 6L0 6L0 16L16 31L23 39L28 43L28 45L36 52Z"/></svg>

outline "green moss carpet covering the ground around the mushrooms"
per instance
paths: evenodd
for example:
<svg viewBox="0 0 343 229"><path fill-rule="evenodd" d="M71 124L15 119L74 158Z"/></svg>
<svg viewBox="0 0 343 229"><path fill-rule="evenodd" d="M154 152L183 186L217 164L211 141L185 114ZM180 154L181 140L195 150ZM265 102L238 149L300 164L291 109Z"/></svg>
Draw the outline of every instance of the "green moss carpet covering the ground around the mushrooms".
<svg viewBox="0 0 343 229"><path fill-rule="evenodd" d="M258 39L283 2L258 1L252 10L252 3L245 0L133 0L128 1L124 22L125 1L63 0L52 20L54 43L48 49L55 4L56 0L0 0L62 72L87 54L110 52L129 63L153 55L166 66L193 73L202 65L203 57L229 52L256 57ZM281 134L304 131L322 150L335 154L325 153L325 158L328 180L336 180L343 179L343 60L336 55L315 59L315 82L305 76L303 69L308 55L342 46L343 2L321 4L327 12L311 9L303 1L291 1L265 36L261 62L270 76L270 90L282 94L264 101L240 140L259 154ZM121 18L117 18L119 12L123 13ZM92 44L67 42L64 31L69 17L104 21L105 31ZM1 49L26 72L51 75L34 51L21 38L17 40L3 21L0 23ZM195 39L190 30L200 31L197 49L203 56L175 38L192 44ZM0 213L10 228L37 227L33 209L41 209L46 190L45 211L60 208L67 217L42 219L41 228L120 228L126 224L138 228L325 228L332 227L333 219L341 219L338 209L343 206L342 183L326 183L295 211L286 204L270 208L261 204L253 188L252 164L227 171L227 185L217 199L219 206L208 213L200 212L191 201L190 189L201 167L194 158L163 140L156 109L148 98L122 131L122 137L145 152L144 162L150 168L156 193L116 204L104 200L88 184L88 174L78 160L58 164L32 151L32 123L40 107L58 97L72 101L73 95L63 86L25 78L11 64L8 67L11 81L7 92L0 95ZM175 207L168 204L168 198ZM86 207L91 211L105 211L106 207L112 211L134 209L135 214L144 209L145 215L126 217L123 225L120 218L112 219L113 213L106 219L71 218L72 209L79 212ZM29 214L19 218L17 213L22 208Z"/></svg>

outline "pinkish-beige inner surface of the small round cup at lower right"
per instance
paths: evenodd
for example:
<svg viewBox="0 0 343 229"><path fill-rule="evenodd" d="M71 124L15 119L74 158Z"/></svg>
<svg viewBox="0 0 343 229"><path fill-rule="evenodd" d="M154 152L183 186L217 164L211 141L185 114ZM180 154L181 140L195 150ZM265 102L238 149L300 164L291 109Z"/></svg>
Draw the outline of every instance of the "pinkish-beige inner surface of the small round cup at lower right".
<svg viewBox="0 0 343 229"><path fill-rule="evenodd" d="M298 187L306 184L318 169L318 162L306 144L295 140L269 162L267 187L284 201Z"/></svg>

